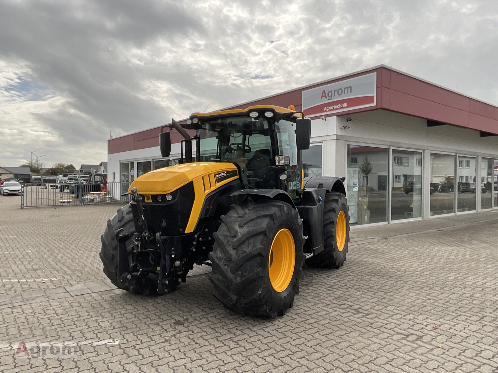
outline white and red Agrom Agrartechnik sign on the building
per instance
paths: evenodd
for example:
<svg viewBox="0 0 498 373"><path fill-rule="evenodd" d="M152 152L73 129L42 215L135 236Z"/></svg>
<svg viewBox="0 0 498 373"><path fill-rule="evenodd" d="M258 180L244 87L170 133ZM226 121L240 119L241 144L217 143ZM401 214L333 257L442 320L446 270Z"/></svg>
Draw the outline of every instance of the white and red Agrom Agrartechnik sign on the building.
<svg viewBox="0 0 498 373"><path fill-rule="evenodd" d="M372 73L303 91L304 115L318 116L375 106L376 78L376 73Z"/></svg>

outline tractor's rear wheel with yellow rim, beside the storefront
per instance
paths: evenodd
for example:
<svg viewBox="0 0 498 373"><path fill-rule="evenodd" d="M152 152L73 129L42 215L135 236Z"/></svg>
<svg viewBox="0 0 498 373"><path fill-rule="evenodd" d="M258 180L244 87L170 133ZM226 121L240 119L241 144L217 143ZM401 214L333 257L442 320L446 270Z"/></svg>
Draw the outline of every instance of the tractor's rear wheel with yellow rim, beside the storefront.
<svg viewBox="0 0 498 373"><path fill-rule="evenodd" d="M341 223L341 214L344 214L346 220L345 227L344 222ZM337 230L338 220L341 232ZM346 196L337 192L327 193L323 211L324 250L307 259L306 264L316 268L341 268L348 253L349 231L349 207Z"/></svg>

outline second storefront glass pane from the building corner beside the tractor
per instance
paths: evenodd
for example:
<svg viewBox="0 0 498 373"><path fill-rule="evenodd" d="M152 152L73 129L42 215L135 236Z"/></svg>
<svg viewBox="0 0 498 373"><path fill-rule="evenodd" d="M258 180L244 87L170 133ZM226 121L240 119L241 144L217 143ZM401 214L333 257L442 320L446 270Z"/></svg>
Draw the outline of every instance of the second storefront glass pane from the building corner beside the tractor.
<svg viewBox="0 0 498 373"><path fill-rule="evenodd" d="M392 149L391 220L422 216L422 152Z"/></svg>

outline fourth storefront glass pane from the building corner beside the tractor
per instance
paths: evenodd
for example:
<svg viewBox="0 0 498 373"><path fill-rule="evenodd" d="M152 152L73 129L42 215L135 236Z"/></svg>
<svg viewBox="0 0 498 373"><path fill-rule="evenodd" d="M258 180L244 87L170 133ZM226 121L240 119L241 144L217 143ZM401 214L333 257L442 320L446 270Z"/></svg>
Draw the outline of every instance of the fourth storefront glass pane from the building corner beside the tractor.
<svg viewBox="0 0 498 373"><path fill-rule="evenodd" d="M458 212L476 209L476 157L458 156Z"/></svg>

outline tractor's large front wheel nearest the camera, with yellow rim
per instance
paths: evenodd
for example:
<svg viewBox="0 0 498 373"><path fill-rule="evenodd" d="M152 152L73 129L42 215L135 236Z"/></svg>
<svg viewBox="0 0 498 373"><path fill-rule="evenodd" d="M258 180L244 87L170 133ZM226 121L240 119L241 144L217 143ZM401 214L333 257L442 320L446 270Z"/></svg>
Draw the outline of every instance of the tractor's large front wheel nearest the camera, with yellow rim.
<svg viewBox="0 0 498 373"><path fill-rule="evenodd" d="M288 203L265 199L232 205L221 220L209 255L216 298L245 315L283 316L299 294L302 275L299 213Z"/></svg>

